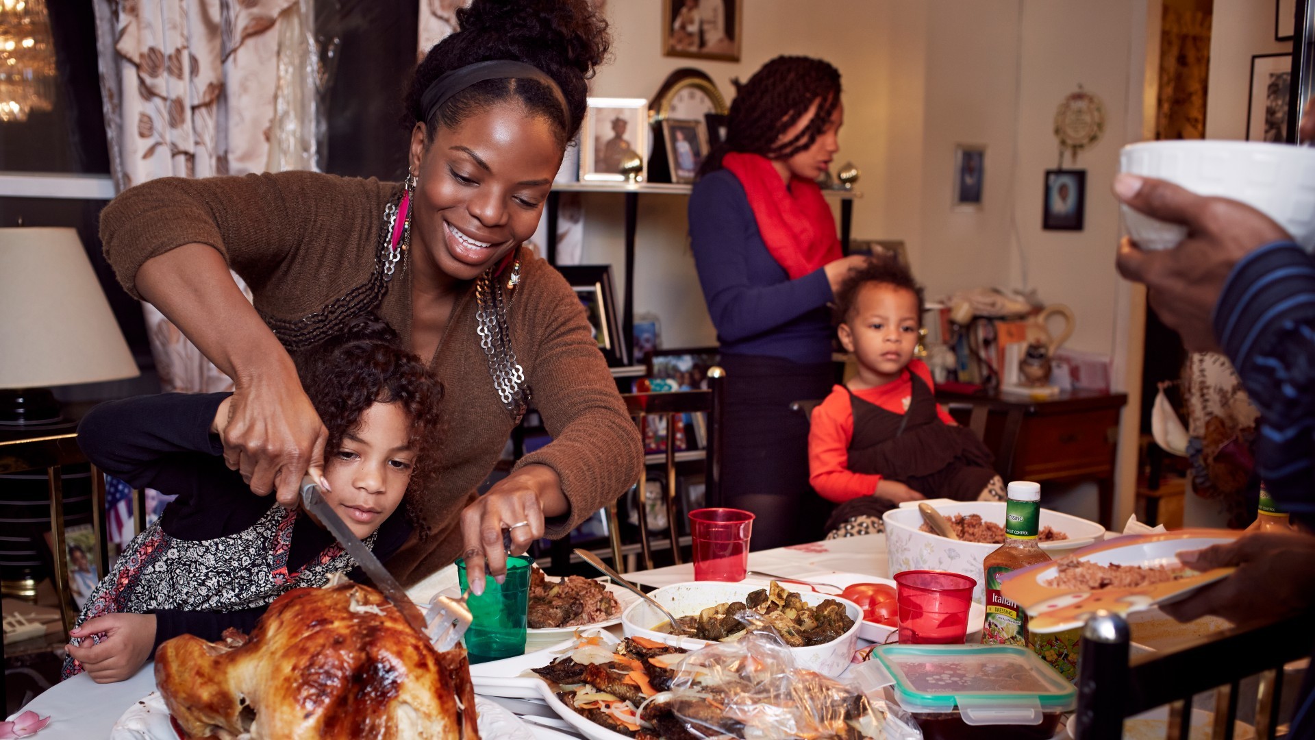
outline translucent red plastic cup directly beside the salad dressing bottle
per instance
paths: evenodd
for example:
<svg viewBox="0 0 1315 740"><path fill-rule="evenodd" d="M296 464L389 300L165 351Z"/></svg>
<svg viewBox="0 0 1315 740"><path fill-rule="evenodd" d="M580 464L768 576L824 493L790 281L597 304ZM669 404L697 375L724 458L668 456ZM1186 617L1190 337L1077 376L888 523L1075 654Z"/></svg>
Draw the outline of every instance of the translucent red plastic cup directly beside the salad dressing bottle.
<svg viewBox="0 0 1315 740"><path fill-rule="evenodd" d="M944 570L896 574L899 644L961 645L968 636L968 610L977 581Z"/></svg>

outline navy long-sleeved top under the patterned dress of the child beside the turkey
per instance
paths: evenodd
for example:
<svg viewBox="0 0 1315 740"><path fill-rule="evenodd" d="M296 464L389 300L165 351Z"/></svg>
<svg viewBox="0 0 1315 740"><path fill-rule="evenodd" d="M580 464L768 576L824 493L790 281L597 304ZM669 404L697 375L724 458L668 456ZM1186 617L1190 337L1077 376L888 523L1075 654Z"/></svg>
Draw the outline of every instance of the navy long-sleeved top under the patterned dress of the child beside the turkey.
<svg viewBox="0 0 1315 740"><path fill-rule="evenodd" d="M103 403L78 425L78 445L97 467L134 489L176 495L160 515L160 527L181 540L213 540L254 525L274 504L224 463L224 445L210 433L214 413L231 394L159 394ZM398 510L379 525L373 552L396 553L412 525ZM288 569L297 570L334 544L333 535L309 516L292 527ZM364 582L360 568L347 574ZM267 607L208 612L155 611L155 647L179 635L218 640L229 627L250 633Z"/></svg>

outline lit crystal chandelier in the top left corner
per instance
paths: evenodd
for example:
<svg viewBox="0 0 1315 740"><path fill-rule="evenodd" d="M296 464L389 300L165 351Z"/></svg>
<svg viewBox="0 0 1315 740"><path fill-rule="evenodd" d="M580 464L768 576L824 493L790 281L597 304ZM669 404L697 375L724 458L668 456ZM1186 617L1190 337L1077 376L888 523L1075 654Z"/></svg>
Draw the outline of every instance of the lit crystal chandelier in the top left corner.
<svg viewBox="0 0 1315 740"><path fill-rule="evenodd" d="M46 0L0 0L0 121L26 121L55 99Z"/></svg>

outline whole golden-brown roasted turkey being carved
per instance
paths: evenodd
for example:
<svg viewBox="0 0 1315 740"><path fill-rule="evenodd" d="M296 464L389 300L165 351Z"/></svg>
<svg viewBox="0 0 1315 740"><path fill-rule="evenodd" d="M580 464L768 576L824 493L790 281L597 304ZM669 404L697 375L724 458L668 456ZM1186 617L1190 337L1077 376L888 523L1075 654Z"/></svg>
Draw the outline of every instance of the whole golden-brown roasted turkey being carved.
<svg viewBox="0 0 1315 740"><path fill-rule="evenodd" d="M249 637L168 640L155 683L183 737L479 740L466 649L355 583L288 591Z"/></svg>

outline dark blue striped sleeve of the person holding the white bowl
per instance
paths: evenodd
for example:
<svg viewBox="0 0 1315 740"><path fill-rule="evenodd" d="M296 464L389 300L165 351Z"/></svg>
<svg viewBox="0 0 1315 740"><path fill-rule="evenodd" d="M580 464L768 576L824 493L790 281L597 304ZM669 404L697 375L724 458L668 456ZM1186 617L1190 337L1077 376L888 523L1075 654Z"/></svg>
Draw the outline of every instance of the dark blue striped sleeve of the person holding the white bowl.
<svg viewBox="0 0 1315 740"><path fill-rule="evenodd" d="M1315 262L1293 242L1233 267L1215 338L1261 412L1256 461L1276 502L1315 520Z"/></svg>

